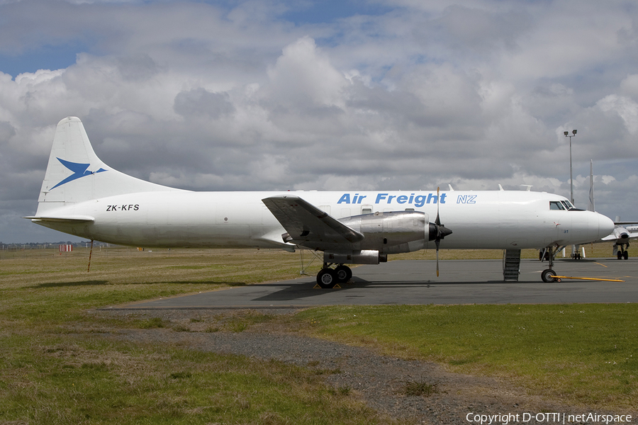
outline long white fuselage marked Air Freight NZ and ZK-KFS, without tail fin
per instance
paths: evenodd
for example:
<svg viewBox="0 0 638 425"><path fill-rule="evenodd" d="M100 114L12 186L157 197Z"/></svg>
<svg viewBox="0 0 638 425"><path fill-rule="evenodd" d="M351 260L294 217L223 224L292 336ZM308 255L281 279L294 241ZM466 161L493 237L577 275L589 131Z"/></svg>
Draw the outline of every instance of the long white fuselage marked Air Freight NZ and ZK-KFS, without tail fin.
<svg viewBox="0 0 638 425"><path fill-rule="evenodd" d="M53 229L114 244L147 247L283 248L286 231L262 199L293 195L342 219L375 212L415 210L453 233L444 249L527 249L580 244L609 234L607 217L581 210L550 210L550 193L526 191L155 191L110 196L57 208L50 215L88 216L92 222L38 222ZM53 205L51 205L53 206ZM430 241L425 247L434 248Z"/></svg>

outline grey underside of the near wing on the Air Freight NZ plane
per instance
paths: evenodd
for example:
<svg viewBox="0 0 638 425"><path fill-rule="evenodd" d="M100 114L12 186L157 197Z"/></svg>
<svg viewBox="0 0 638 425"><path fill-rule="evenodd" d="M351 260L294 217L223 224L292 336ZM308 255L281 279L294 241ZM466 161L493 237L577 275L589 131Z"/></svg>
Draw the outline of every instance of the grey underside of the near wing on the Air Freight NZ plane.
<svg viewBox="0 0 638 425"><path fill-rule="evenodd" d="M286 242L325 249L325 246L352 244L364 239L363 234L298 196L271 196L262 202L288 232L290 239Z"/></svg>

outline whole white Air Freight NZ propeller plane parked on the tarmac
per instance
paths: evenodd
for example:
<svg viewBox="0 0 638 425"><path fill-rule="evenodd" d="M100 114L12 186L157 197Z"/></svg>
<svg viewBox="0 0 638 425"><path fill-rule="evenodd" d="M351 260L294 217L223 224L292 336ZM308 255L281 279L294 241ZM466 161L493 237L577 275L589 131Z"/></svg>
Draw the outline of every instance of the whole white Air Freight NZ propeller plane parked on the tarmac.
<svg viewBox="0 0 638 425"><path fill-rule="evenodd" d="M552 255L542 280L552 282L552 260L561 246L600 239L614 228L608 217L576 210L563 196L531 191L169 188L101 162L75 117L57 125L38 211L25 218L128 246L323 251L317 276L322 288L352 277L345 264L376 264L387 261L388 254L420 249L437 249L438 254L439 246L503 249L517 253L519 262L520 249L547 248ZM517 264L515 269L517 275Z"/></svg>

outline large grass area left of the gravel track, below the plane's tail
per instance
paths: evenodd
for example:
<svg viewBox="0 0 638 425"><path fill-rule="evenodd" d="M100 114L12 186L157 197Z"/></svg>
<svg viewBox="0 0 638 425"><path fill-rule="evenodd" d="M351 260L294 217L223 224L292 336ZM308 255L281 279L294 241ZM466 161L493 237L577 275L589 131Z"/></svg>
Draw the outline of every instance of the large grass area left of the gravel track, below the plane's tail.
<svg viewBox="0 0 638 425"><path fill-rule="evenodd" d="M108 338L118 328L190 331L197 319L184 325L94 312L104 305L295 277L296 256L113 249L108 256L94 253L87 273L85 254L35 251L0 261L0 423L392 423L323 385L313 370ZM271 318L224 319L216 330L242 331Z"/></svg>

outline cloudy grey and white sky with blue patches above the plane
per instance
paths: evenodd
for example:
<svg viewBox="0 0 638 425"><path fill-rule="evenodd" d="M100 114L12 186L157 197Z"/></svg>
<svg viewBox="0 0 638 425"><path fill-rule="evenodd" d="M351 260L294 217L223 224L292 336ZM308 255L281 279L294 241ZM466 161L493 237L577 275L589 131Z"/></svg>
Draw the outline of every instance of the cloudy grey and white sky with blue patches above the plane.
<svg viewBox="0 0 638 425"><path fill-rule="evenodd" d="M525 190L638 220L638 3L0 0L0 241L55 125L196 191Z"/></svg>

